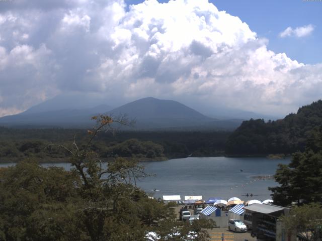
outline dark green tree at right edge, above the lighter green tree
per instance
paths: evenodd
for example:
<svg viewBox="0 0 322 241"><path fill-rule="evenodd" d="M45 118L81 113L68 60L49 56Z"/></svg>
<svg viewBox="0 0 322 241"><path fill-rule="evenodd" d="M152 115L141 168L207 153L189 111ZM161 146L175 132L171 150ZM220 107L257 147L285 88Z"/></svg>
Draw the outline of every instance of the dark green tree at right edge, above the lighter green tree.
<svg viewBox="0 0 322 241"><path fill-rule="evenodd" d="M304 152L296 152L288 165L279 165L278 187L270 187L274 202L289 205L322 201L322 126L315 128Z"/></svg>

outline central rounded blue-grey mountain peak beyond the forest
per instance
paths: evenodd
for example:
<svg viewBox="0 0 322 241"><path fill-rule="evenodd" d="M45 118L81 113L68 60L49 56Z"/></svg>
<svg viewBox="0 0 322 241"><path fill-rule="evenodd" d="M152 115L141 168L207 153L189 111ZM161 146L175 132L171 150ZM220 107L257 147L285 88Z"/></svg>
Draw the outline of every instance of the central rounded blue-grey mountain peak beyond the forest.
<svg viewBox="0 0 322 241"><path fill-rule="evenodd" d="M214 119L180 102L153 97L142 98L108 112L112 116L124 113L129 119L135 119L135 129L144 130L234 129L241 123Z"/></svg>

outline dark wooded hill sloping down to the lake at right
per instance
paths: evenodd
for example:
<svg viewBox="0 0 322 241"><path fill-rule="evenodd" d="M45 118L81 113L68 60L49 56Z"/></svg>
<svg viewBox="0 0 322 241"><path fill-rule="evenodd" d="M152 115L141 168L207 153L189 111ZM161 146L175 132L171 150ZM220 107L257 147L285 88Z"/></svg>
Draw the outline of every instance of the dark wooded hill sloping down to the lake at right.
<svg viewBox="0 0 322 241"><path fill-rule="evenodd" d="M302 151L314 128L322 125L322 100L300 107L296 114L265 123L243 122L226 143L226 153L236 155L290 154Z"/></svg>

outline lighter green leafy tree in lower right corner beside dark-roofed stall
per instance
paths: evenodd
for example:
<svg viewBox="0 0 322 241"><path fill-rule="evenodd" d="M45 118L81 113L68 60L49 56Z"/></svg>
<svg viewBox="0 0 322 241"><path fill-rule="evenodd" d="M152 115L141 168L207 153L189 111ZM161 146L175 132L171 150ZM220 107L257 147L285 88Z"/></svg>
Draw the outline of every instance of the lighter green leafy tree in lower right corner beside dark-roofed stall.
<svg viewBox="0 0 322 241"><path fill-rule="evenodd" d="M296 231L308 241L322 238L322 207L320 204L304 204L291 209L289 216L282 216L284 227Z"/></svg>

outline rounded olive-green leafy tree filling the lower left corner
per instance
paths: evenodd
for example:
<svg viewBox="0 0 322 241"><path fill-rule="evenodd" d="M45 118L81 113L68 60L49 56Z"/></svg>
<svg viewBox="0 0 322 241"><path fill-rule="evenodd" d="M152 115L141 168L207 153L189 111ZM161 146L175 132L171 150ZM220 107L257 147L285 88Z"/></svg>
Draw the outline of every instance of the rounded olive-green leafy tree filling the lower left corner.
<svg viewBox="0 0 322 241"><path fill-rule="evenodd" d="M1 240L79 237L74 221L81 185L78 175L28 160L2 169L0 180Z"/></svg>

